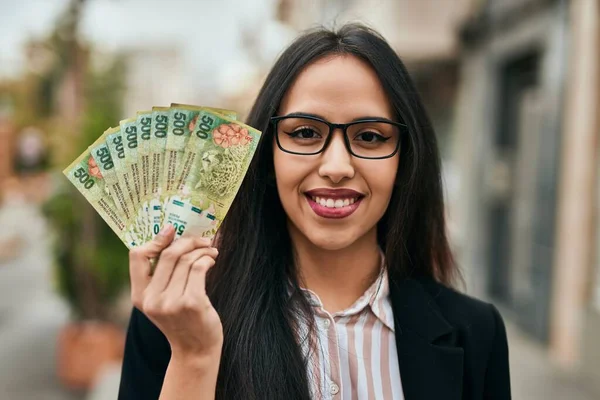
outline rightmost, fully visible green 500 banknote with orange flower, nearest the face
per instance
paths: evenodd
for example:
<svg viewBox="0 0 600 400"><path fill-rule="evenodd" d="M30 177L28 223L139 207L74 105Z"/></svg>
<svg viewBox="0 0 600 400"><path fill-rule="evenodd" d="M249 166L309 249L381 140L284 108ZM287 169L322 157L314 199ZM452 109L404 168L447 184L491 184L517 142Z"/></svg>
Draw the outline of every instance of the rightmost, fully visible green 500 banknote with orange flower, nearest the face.
<svg viewBox="0 0 600 400"><path fill-rule="evenodd" d="M185 147L165 221L177 236L211 237L224 219L256 151L260 132L222 114L202 110Z"/></svg>

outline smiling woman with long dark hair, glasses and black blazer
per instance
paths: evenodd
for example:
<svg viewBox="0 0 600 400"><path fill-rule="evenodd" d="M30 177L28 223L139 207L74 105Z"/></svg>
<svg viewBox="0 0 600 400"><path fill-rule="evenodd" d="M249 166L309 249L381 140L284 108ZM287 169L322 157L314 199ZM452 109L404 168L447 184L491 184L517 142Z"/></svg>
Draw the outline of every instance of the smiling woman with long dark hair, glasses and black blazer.
<svg viewBox="0 0 600 400"><path fill-rule="evenodd" d="M120 399L509 399L498 311L451 289L435 135L390 46L301 36L248 123L218 250L166 227L131 253Z"/></svg>

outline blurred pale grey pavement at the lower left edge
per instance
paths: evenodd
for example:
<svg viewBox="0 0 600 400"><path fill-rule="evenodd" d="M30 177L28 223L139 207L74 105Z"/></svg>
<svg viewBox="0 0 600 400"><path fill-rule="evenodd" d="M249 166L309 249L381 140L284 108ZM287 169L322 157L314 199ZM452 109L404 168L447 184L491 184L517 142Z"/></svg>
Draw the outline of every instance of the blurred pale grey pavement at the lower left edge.
<svg viewBox="0 0 600 400"><path fill-rule="evenodd" d="M0 398L81 400L55 374L57 335L69 311L52 288L44 220L36 207L15 202L0 207L0 226Z"/></svg>

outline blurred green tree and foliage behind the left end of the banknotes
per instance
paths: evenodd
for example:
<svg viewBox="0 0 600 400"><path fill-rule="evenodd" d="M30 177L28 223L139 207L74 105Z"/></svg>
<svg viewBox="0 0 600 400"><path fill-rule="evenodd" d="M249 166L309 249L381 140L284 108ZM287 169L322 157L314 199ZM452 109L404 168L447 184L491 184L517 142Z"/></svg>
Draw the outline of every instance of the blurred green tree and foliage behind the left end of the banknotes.
<svg viewBox="0 0 600 400"><path fill-rule="evenodd" d="M44 48L54 54L37 85L36 115L52 121L53 161L63 169L104 130L121 119L125 63L90 63L78 39L82 0L74 0ZM62 175L44 211L55 228L56 284L79 320L107 320L128 283L127 249Z"/></svg>

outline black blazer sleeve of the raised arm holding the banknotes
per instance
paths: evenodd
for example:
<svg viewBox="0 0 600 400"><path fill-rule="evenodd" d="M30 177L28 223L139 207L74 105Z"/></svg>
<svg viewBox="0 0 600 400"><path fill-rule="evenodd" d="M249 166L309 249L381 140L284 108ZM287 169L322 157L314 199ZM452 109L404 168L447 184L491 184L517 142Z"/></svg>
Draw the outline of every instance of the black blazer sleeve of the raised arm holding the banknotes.
<svg viewBox="0 0 600 400"><path fill-rule="evenodd" d="M118 399L158 399L170 359L171 347L166 337L141 311L133 308Z"/></svg>

